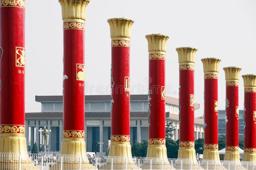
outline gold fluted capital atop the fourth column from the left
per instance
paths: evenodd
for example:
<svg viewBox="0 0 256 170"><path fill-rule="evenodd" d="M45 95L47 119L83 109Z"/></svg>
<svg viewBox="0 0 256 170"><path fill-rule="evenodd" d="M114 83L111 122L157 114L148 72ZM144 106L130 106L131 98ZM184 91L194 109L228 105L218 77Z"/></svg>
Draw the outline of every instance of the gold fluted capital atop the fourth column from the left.
<svg viewBox="0 0 256 170"><path fill-rule="evenodd" d="M148 52L162 51L166 52L166 43L169 39L168 35L150 34L145 36L148 40Z"/></svg>

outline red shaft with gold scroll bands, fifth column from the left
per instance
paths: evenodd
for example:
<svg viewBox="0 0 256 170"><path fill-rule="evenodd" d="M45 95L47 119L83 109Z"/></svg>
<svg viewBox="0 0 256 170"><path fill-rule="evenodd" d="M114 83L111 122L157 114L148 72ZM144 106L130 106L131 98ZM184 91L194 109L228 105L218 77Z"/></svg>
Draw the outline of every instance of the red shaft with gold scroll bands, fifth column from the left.
<svg viewBox="0 0 256 170"><path fill-rule="evenodd" d="M185 68L185 69L184 69ZM191 69L189 69L191 68ZM179 146L195 146L195 95L194 66L180 65L180 143Z"/></svg>

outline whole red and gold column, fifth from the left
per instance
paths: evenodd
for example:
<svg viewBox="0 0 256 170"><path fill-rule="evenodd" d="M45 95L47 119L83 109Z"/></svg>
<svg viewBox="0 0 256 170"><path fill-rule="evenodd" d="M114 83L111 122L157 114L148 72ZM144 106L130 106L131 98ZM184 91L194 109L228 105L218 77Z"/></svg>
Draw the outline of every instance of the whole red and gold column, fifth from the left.
<svg viewBox="0 0 256 170"><path fill-rule="evenodd" d="M195 93L194 72L196 48L176 48L179 56L180 86L180 142L178 159L191 159L194 165L196 161L195 151Z"/></svg>

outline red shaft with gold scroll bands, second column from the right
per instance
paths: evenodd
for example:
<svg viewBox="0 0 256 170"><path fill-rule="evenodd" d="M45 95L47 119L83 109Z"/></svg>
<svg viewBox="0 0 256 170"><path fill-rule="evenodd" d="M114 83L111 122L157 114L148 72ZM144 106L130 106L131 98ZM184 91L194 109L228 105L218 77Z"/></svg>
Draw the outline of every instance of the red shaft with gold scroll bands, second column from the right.
<svg viewBox="0 0 256 170"><path fill-rule="evenodd" d="M238 82L226 82L226 117L226 151L238 151Z"/></svg>

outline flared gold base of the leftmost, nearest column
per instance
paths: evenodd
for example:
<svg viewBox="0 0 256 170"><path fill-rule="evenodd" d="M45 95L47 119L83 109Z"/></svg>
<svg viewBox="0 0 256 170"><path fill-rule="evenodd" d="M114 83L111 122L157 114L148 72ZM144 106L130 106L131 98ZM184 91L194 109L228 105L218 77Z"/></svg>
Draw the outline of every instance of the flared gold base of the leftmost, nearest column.
<svg viewBox="0 0 256 170"><path fill-rule="evenodd" d="M28 157L27 142L25 134L20 133L2 133L0 134L0 153L7 153L8 156L1 155L0 161L15 163L30 163ZM12 155L12 156L10 156Z"/></svg>

